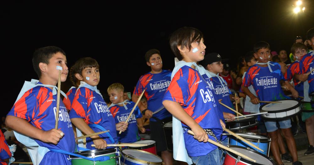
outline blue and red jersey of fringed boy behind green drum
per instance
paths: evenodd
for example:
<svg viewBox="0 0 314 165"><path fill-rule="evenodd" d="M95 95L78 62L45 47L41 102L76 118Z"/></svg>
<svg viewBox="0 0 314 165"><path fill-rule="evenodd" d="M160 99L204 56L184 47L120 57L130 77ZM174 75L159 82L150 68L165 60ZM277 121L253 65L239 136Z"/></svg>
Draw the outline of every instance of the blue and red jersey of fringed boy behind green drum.
<svg viewBox="0 0 314 165"><path fill-rule="evenodd" d="M86 124L98 124L102 126L106 130L109 130L114 142L117 142L115 119L112 117L102 96L96 91L86 87L78 88L69 115L70 118L83 118ZM103 131L99 128L91 128L95 132ZM106 133L100 134L99 136L108 144L112 143ZM86 138L86 147L88 149L95 149L95 147L91 147L92 144L92 139Z"/></svg>

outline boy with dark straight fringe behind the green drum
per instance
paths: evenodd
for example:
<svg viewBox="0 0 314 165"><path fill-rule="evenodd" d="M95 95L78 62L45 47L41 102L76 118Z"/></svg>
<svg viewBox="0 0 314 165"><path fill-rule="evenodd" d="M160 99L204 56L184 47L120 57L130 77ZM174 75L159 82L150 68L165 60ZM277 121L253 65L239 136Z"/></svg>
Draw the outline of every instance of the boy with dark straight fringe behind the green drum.
<svg viewBox="0 0 314 165"><path fill-rule="evenodd" d="M93 58L80 58L73 66L73 74L81 81L69 113L72 123L86 135L109 130L86 138L86 148L103 149L107 143L117 143L116 130L125 131L127 123L115 122L106 102L97 89L100 81L99 65ZM95 147L91 145L95 144Z"/></svg>

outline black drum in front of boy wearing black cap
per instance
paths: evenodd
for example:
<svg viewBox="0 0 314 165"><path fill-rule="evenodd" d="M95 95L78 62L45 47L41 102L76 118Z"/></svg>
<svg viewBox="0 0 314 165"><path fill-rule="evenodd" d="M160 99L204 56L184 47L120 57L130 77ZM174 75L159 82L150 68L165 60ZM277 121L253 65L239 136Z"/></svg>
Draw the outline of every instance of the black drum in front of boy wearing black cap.
<svg viewBox="0 0 314 165"><path fill-rule="evenodd" d="M258 122L256 116L248 116L246 118L239 118L239 120L235 119L234 121L226 122L226 128L231 131L236 131L251 128L257 124Z"/></svg>

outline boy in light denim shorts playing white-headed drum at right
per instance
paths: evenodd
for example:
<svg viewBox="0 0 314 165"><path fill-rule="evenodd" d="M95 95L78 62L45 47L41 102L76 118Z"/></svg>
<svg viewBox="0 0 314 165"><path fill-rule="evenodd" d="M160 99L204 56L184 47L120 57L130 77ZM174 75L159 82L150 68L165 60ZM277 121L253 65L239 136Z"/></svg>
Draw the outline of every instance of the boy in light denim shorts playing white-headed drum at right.
<svg viewBox="0 0 314 165"><path fill-rule="evenodd" d="M281 73L280 65L278 63L270 62L270 46L267 42L259 41L254 44L254 56L257 58L258 63L250 67L243 79L242 90L247 96L251 98L253 104L259 104L260 100L263 101L275 101L279 99L287 98L281 89L283 86L285 89L290 90L292 96L297 97L298 94L293 89L288 81L286 81ZM248 89L248 86L253 85L256 91L257 97L254 96ZM264 103L260 103L263 105ZM283 132L284 137L289 143L287 143L288 149L292 155L293 165L300 165L296 152L295 139L291 132L291 121L290 119L279 121L280 128ZM277 131L276 122L265 121L265 126L268 135L272 138L270 144L271 151L275 157L277 163L283 164L280 158L279 147L277 142Z"/></svg>

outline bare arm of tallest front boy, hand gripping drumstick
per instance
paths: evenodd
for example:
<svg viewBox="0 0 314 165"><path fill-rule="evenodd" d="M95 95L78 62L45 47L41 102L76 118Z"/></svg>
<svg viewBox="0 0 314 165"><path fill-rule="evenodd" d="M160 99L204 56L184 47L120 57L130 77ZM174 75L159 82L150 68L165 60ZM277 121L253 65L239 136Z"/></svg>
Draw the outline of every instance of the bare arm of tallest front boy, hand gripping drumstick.
<svg viewBox="0 0 314 165"><path fill-rule="evenodd" d="M195 139L197 139L198 141L207 142L208 135L206 134L205 130L201 126L199 126L196 121L189 114L187 114L187 112L184 111L180 103L170 100L164 100L162 104L174 117L181 120L188 127L191 128L191 130L195 134Z"/></svg>

